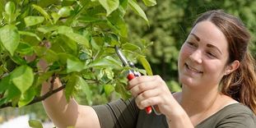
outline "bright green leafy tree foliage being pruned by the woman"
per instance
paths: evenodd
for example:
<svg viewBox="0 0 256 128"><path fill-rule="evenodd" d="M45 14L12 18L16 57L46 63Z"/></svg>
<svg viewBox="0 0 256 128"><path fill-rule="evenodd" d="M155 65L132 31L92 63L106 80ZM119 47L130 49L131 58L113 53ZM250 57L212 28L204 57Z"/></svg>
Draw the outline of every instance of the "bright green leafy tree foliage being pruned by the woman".
<svg viewBox="0 0 256 128"><path fill-rule="evenodd" d="M147 6L155 0L144 0ZM91 105L95 94L128 98L127 80L114 46L131 61L142 62L148 43L130 43L123 20L128 8L145 12L133 0L2 0L0 1L0 107L40 102L64 89L67 101L79 91ZM59 77L63 86L40 95L44 81Z"/></svg>

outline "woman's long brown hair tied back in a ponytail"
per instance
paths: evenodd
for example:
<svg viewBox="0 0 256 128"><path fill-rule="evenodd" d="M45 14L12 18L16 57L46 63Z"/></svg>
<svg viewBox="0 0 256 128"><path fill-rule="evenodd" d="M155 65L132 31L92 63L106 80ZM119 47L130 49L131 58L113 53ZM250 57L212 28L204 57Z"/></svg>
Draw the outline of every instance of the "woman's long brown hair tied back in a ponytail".
<svg viewBox="0 0 256 128"><path fill-rule="evenodd" d="M194 25L200 21L211 21L226 35L229 47L227 64L240 61L240 67L236 71L223 76L221 92L248 106L256 114L256 68L254 57L248 48L249 31L239 18L220 10L203 13Z"/></svg>

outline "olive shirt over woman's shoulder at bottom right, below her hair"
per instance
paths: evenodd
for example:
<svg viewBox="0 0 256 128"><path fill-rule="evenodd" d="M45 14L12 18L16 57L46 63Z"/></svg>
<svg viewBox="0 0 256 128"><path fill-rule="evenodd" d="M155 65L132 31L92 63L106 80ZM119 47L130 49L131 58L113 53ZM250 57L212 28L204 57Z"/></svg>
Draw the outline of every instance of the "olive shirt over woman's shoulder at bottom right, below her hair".
<svg viewBox="0 0 256 128"><path fill-rule="evenodd" d="M196 127L254 128L255 126L256 117L254 112L241 103L233 103L223 107Z"/></svg>

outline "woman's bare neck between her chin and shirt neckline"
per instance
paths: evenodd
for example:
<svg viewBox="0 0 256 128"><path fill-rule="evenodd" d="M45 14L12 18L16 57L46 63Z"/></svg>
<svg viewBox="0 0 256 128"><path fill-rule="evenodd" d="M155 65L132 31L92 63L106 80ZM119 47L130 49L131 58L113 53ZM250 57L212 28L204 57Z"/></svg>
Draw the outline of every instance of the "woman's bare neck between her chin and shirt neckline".
<svg viewBox="0 0 256 128"><path fill-rule="evenodd" d="M213 89L189 89L185 85L182 89L180 105L190 116L207 112L215 103L220 95L217 86Z"/></svg>

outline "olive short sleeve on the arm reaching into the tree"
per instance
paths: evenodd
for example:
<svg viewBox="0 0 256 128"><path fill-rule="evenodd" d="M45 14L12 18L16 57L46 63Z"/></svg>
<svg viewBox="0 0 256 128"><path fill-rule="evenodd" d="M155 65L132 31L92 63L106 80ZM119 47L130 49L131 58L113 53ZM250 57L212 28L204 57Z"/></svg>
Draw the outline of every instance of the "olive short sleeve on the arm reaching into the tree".
<svg viewBox="0 0 256 128"><path fill-rule="evenodd" d="M105 105L93 106L100 121L101 128L136 127L139 109L133 98L119 99Z"/></svg>

